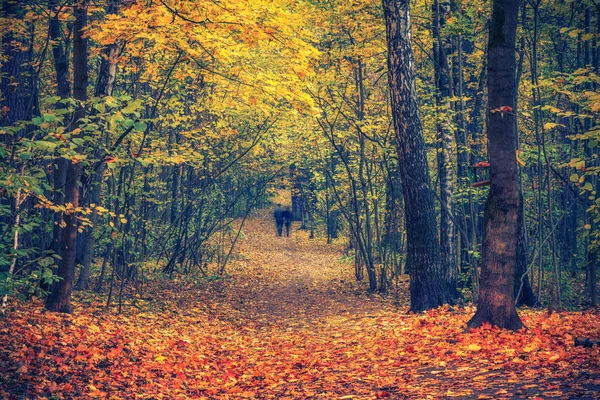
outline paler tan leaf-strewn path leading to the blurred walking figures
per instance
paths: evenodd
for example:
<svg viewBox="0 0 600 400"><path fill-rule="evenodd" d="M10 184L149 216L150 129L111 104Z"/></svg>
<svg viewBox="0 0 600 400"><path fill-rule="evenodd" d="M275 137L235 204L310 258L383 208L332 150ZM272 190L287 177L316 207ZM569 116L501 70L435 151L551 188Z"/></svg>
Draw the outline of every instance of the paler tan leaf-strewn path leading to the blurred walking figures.
<svg viewBox="0 0 600 400"><path fill-rule="evenodd" d="M290 237L278 237L271 209L245 221L245 237L236 246L240 258L228 267L239 295L234 308L248 319L283 327L391 310L391 298L367 295L364 283L356 282L342 239L309 239L299 226L294 222Z"/></svg>

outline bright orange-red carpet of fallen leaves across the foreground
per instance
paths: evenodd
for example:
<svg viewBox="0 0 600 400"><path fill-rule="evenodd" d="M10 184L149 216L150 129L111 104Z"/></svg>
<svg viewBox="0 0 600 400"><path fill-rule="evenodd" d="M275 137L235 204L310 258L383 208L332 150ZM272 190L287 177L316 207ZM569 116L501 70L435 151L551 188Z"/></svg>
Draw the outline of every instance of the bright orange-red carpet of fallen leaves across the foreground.
<svg viewBox="0 0 600 400"><path fill-rule="evenodd" d="M600 382L599 350L566 338L572 330L600 336L594 314L548 324L526 311L529 331L465 333L471 309L435 310L425 324L382 312L293 329L226 321L208 309L148 319L20 304L0 325L0 397L498 398L542 395L549 384L563 396L574 396L571 386L591 396Z"/></svg>

